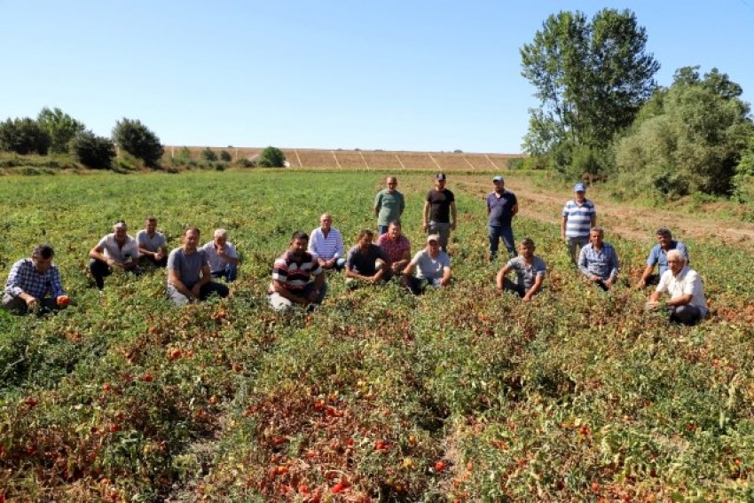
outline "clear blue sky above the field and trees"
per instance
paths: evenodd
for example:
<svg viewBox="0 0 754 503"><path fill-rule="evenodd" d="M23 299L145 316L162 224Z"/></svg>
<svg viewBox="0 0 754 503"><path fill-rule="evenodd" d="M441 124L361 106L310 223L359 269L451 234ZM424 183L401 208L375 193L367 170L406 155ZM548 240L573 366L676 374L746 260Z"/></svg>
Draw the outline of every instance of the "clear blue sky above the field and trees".
<svg viewBox="0 0 754 503"><path fill-rule="evenodd" d="M754 0L0 0L0 120L59 107L165 145L519 153L519 49L560 11L631 9L669 85L718 67L754 101Z"/></svg>

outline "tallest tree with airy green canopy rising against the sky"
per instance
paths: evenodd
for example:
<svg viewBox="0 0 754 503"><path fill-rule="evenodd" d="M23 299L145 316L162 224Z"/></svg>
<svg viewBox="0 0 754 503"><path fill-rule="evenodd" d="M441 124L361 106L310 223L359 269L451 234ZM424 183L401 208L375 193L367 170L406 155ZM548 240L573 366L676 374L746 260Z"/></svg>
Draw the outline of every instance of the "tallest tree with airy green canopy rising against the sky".
<svg viewBox="0 0 754 503"><path fill-rule="evenodd" d="M531 109L523 148L553 153L563 144L608 145L629 126L656 87L660 65L646 51L647 33L630 11L604 9L590 22L559 12L521 49L522 75L540 107Z"/></svg>

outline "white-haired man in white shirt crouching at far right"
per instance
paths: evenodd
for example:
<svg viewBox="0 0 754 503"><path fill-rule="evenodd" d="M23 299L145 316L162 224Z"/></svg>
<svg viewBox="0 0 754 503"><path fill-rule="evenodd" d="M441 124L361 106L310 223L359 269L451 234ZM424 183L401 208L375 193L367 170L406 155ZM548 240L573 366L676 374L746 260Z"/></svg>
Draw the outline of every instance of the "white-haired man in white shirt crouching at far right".
<svg viewBox="0 0 754 503"><path fill-rule="evenodd" d="M668 270L664 271L656 290L649 295L647 309L660 309L660 298L668 293L671 298L664 306L671 321L695 325L707 316L707 299L704 298L702 279L688 267L686 257L679 249L670 250L667 258Z"/></svg>

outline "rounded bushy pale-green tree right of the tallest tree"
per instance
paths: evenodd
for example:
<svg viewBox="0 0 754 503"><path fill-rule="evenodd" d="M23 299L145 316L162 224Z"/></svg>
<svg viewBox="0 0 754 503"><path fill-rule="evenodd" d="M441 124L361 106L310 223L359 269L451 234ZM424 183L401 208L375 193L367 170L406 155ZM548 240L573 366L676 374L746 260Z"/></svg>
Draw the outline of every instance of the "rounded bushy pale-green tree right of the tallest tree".
<svg viewBox="0 0 754 503"><path fill-rule="evenodd" d="M740 86L714 69L700 78L695 67L676 72L656 93L632 132L616 146L624 184L669 195L734 192L741 154L754 134ZM633 181L631 181L633 180Z"/></svg>

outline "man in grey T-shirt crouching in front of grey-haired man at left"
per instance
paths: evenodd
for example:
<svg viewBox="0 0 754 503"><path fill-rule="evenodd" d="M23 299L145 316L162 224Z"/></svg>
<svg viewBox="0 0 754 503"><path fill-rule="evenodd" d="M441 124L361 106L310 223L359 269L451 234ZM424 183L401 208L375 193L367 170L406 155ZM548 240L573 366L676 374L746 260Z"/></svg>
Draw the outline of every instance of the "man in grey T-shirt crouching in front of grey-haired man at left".
<svg viewBox="0 0 754 503"><path fill-rule="evenodd" d="M197 248L199 233L196 227L186 227L181 246L168 255L167 293L179 306L203 301L213 293L228 296L228 287L212 281L207 254Z"/></svg>

